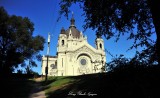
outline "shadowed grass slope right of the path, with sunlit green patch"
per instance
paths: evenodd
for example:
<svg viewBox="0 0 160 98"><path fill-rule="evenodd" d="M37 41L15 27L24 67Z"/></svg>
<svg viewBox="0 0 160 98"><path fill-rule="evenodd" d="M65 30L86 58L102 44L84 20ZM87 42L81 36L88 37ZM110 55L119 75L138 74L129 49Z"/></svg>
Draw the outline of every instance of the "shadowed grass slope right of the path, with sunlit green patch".
<svg viewBox="0 0 160 98"><path fill-rule="evenodd" d="M160 68L50 77L44 86L48 98L160 98Z"/></svg>

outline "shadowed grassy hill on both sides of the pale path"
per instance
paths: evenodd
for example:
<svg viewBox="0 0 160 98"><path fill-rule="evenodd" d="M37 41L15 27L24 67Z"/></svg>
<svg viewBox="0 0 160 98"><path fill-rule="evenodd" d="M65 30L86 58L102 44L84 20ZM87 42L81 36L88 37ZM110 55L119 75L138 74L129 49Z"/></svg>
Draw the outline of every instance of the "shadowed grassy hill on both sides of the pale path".
<svg viewBox="0 0 160 98"><path fill-rule="evenodd" d="M1 80L1 96L28 98L35 84L34 79L18 77ZM48 77L47 82L40 84L47 98L160 98L160 66L121 67L107 73Z"/></svg>

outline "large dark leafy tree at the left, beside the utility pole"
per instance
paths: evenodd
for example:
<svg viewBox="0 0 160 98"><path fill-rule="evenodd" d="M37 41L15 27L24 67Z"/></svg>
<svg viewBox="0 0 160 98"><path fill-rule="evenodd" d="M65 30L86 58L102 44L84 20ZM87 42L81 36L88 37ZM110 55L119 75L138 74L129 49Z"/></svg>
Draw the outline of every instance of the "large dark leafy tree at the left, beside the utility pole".
<svg viewBox="0 0 160 98"><path fill-rule="evenodd" d="M27 18L8 15L0 7L0 74L14 71L18 65L25 66L30 60L36 66L34 59L40 60L39 52L44 48L45 39L42 36L32 36L34 24Z"/></svg>

